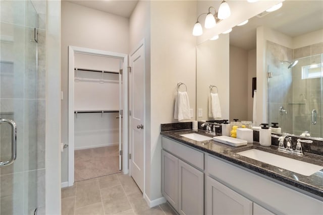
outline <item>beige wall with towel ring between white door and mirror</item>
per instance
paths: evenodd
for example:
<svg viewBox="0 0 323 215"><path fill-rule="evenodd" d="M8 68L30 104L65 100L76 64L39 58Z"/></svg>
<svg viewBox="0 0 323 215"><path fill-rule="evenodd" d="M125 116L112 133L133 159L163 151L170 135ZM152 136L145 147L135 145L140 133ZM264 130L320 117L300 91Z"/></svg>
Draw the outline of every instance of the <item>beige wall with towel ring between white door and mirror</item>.
<svg viewBox="0 0 323 215"><path fill-rule="evenodd" d="M175 122L176 86L187 86L190 106L195 106L195 1L152 1L151 6L151 145L150 199L161 197L160 123ZM161 114L163 113L163 114ZM147 173L146 173L147 174Z"/></svg>

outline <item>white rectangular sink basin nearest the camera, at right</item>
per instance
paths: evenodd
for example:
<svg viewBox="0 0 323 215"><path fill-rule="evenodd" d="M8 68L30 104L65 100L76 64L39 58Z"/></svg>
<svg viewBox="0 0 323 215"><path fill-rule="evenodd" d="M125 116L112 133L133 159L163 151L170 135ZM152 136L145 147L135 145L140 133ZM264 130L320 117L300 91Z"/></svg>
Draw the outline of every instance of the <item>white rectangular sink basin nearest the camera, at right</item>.
<svg viewBox="0 0 323 215"><path fill-rule="evenodd" d="M292 158L287 158L268 152L263 152L256 149L239 152L237 154L305 176L310 176L313 173L323 169L322 166L298 161Z"/></svg>

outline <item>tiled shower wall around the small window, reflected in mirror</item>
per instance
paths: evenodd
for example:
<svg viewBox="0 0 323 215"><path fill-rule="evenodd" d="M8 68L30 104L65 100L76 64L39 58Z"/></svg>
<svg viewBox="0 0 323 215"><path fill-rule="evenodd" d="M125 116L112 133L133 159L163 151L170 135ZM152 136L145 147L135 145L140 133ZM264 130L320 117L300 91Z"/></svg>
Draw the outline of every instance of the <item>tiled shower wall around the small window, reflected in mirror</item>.
<svg viewBox="0 0 323 215"><path fill-rule="evenodd" d="M308 130L311 136L322 137L322 77L302 79L302 66L321 63L323 42L294 49L294 59L299 62L292 68L293 73L293 131L301 134ZM316 124L311 123L311 111L317 111Z"/></svg>

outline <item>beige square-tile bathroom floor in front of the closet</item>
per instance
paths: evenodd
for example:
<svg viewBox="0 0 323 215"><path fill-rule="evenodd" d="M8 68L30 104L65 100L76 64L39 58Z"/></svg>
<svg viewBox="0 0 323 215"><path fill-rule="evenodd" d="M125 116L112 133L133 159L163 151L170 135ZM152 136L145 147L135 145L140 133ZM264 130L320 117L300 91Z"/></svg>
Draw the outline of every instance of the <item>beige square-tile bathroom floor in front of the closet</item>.
<svg viewBox="0 0 323 215"><path fill-rule="evenodd" d="M62 189L62 215L177 214L168 203L149 208L134 180L117 173Z"/></svg>

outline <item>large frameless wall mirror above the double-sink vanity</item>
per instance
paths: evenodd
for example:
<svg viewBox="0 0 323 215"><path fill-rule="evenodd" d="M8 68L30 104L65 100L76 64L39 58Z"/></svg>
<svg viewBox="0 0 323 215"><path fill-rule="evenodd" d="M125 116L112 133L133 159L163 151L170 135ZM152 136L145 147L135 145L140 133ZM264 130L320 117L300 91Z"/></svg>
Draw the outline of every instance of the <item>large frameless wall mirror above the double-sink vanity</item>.
<svg viewBox="0 0 323 215"><path fill-rule="evenodd" d="M323 137L322 14L323 1L285 1L197 45L197 120L215 119L208 103L215 85L222 119L278 122L282 132Z"/></svg>

